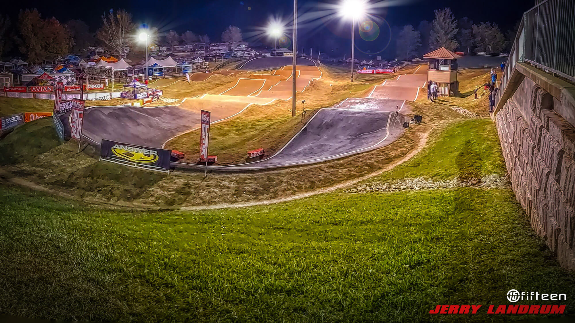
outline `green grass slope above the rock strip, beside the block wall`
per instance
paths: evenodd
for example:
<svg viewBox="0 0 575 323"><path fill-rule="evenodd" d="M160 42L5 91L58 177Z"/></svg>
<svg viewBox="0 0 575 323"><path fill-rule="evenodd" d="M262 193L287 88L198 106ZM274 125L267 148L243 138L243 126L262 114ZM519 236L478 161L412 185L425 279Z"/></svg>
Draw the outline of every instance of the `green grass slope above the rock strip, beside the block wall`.
<svg viewBox="0 0 575 323"><path fill-rule="evenodd" d="M411 160L384 172L372 180L415 178L481 178L504 175L497 129L490 119L454 122L436 132L425 149Z"/></svg>

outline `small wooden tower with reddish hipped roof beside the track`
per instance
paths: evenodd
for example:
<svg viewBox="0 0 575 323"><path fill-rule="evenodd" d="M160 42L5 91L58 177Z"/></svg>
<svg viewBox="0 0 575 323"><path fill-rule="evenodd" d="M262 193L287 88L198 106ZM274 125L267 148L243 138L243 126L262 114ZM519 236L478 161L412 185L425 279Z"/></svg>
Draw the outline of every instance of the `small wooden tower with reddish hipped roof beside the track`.
<svg viewBox="0 0 575 323"><path fill-rule="evenodd" d="M457 59L461 56L442 47L423 55L423 58L429 61L427 80L437 83L439 95L449 95L450 92L459 93Z"/></svg>

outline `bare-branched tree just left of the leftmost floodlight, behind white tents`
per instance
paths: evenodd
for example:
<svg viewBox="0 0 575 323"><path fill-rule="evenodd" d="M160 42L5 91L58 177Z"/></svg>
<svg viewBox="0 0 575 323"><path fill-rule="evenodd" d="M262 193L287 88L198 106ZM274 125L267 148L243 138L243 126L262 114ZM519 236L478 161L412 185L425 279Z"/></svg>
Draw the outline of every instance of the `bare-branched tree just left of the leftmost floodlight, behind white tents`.
<svg viewBox="0 0 575 323"><path fill-rule="evenodd" d="M115 13L110 9L108 16L102 15L102 27L98 30L97 37L120 56L122 48L132 44L133 33L132 15L124 9Z"/></svg>

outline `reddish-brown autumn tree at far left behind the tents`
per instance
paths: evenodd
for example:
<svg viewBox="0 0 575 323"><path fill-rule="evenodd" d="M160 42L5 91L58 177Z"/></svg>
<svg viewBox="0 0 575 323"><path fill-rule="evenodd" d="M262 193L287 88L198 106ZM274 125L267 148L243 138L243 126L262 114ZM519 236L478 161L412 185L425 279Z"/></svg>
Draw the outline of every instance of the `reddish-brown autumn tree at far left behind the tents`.
<svg viewBox="0 0 575 323"><path fill-rule="evenodd" d="M20 52L28 56L30 63L40 63L47 58L64 56L70 48L70 37L64 25L56 18L43 20L38 10L20 11Z"/></svg>

